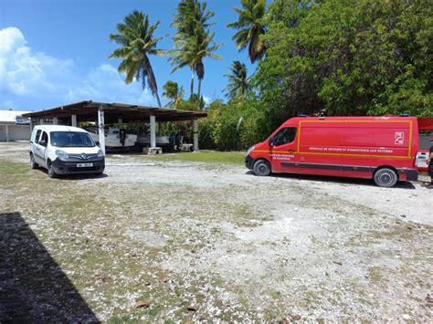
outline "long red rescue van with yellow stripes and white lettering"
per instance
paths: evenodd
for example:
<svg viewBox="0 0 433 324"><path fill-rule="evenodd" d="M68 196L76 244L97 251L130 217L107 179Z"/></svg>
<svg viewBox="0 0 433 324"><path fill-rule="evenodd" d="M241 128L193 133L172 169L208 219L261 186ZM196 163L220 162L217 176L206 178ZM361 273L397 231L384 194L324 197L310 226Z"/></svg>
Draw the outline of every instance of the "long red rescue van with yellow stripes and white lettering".
<svg viewBox="0 0 433 324"><path fill-rule="evenodd" d="M417 180L415 117L296 117L248 149L257 175L291 172L374 179L381 187Z"/></svg>

